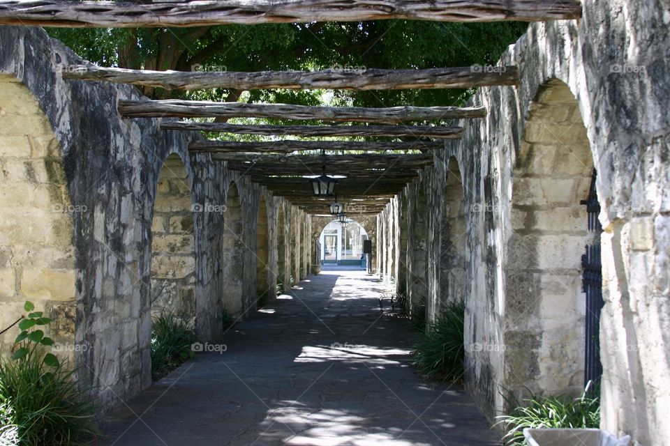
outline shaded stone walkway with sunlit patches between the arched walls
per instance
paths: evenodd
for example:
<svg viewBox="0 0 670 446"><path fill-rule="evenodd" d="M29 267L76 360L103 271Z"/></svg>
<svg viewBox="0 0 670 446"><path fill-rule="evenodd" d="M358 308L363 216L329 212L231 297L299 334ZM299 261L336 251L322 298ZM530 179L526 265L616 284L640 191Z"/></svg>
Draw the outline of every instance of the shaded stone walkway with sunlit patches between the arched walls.
<svg viewBox="0 0 670 446"><path fill-rule="evenodd" d="M415 374L379 292L361 271L309 277L110 414L98 444L500 445L459 387Z"/></svg>

